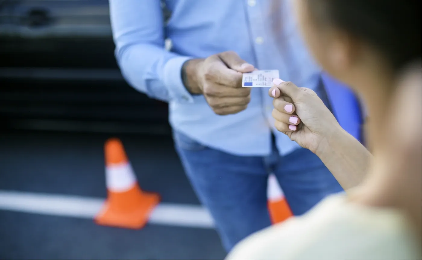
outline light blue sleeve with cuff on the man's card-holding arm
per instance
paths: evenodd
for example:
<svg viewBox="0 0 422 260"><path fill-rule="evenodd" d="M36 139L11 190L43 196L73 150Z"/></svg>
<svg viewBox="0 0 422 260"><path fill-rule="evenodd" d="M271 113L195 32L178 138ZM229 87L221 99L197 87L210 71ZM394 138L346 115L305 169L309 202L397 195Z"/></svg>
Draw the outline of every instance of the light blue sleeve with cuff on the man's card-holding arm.
<svg viewBox="0 0 422 260"><path fill-rule="evenodd" d="M126 81L163 101L193 103L181 68L192 57L165 50L163 15L158 0L109 0L116 59Z"/></svg>

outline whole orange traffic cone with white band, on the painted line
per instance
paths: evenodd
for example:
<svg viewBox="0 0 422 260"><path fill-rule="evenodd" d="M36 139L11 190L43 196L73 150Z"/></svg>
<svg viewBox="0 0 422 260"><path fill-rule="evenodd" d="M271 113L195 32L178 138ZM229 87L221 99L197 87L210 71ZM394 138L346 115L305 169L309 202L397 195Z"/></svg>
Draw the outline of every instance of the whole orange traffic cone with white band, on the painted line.
<svg viewBox="0 0 422 260"><path fill-rule="evenodd" d="M141 190L119 139L107 140L104 148L108 198L95 222L106 226L141 228L160 202L160 196Z"/></svg>

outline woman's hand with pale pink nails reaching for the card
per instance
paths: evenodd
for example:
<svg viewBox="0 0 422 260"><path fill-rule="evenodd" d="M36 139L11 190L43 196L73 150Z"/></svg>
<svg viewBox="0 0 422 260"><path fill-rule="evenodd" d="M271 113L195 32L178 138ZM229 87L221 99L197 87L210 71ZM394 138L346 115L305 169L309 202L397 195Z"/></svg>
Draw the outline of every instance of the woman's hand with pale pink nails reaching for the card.
<svg viewBox="0 0 422 260"><path fill-rule="evenodd" d="M274 79L268 91L273 100L275 127L303 148L314 153L335 131L337 120L311 89L298 88L292 82Z"/></svg>

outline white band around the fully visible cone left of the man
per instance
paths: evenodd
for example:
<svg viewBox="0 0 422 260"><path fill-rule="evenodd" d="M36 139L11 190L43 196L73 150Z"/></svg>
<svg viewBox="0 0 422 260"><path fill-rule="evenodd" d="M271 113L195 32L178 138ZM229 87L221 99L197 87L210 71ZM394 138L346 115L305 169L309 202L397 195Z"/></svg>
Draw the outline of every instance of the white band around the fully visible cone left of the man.
<svg viewBox="0 0 422 260"><path fill-rule="evenodd" d="M107 189L114 192L130 190L136 183L130 163L114 164L106 167Z"/></svg>

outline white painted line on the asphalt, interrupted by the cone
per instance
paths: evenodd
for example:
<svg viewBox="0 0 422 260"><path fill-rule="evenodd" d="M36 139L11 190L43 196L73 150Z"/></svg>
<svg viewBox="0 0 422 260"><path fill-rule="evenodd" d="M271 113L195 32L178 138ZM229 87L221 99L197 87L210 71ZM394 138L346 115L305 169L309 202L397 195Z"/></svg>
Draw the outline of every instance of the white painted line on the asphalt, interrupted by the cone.
<svg viewBox="0 0 422 260"><path fill-rule="evenodd" d="M93 219L104 199L0 190L0 210ZM202 206L160 203L149 224L214 228L214 221Z"/></svg>

